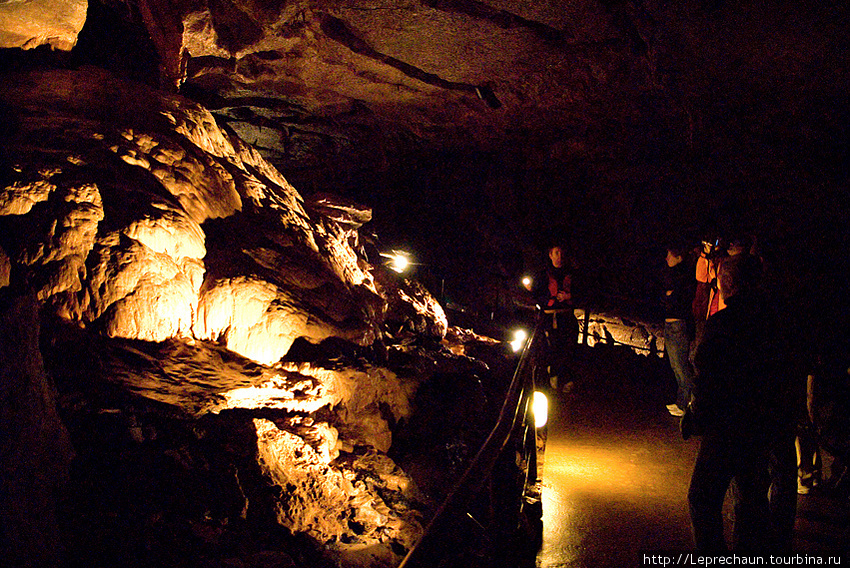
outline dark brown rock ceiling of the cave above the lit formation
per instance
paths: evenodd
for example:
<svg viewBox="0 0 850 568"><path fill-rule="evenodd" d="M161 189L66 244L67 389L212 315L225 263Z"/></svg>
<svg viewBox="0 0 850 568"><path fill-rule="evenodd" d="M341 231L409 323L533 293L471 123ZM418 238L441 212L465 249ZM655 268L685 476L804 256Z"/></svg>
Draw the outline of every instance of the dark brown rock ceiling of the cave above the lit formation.
<svg viewBox="0 0 850 568"><path fill-rule="evenodd" d="M840 222L848 31L838 1L101 0L71 59L200 102L423 248L548 225L598 256L728 209Z"/></svg>

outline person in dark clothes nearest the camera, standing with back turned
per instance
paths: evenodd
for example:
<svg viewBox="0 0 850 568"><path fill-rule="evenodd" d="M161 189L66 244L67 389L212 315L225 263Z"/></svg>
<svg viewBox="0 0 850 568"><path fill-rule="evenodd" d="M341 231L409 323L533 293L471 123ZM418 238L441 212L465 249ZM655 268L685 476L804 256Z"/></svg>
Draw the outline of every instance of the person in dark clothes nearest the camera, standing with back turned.
<svg viewBox="0 0 850 568"><path fill-rule="evenodd" d="M757 261L749 256L722 264L718 284L726 308L706 322L694 360L693 403L702 440L688 502L699 551L726 550L722 508L733 479L733 548L765 551L775 544L771 457L793 424L793 407L778 321L757 293L757 274Z"/></svg>

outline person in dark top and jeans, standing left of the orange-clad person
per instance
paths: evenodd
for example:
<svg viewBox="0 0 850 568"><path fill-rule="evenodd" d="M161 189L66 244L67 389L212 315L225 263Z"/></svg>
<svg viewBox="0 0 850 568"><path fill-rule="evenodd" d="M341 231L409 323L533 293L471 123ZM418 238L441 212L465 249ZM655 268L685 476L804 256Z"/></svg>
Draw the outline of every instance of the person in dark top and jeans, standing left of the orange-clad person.
<svg viewBox="0 0 850 568"><path fill-rule="evenodd" d="M692 268L685 261L687 249L678 244L667 247L666 266L661 274L664 308L664 351L676 378L676 400L667 405L673 416L682 416L691 399L694 372L690 345L694 334L691 302L694 297Z"/></svg>

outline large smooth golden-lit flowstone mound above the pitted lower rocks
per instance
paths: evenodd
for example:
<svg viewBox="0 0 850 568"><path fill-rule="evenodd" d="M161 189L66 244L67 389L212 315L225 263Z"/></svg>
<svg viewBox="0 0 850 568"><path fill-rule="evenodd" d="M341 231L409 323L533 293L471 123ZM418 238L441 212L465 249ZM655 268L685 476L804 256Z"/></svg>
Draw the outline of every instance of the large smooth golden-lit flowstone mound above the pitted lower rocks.
<svg viewBox="0 0 850 568"><path fill-rule="evenodd" d="M4 246L62 317L111 337L221 341L265 363L298 337L376 336L381 300L346 230L311 222L201 107L94 69L22 76L0 97L16 109Z"/></svg>

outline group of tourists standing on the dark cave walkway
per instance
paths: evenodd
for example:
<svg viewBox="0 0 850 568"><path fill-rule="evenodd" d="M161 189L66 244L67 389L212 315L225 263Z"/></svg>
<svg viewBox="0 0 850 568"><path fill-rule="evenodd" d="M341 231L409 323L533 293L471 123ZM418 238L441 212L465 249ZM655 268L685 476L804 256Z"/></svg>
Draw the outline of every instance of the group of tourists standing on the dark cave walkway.
<svg viewBox="0 0 850 568"><path fill-rule="evenodd" d="M574 266L562 247L549 248L548 257L533 293L561 354L549 374L561 377L579 331ZM688 493L700 551L727 549L722 509L730 488L734 550L790 551L793 542L799 367L789 360L793 349L763 269L744 238L666 249L664 343L677 384L667 410L680 417L686 439L700 437Z"/></svg>

